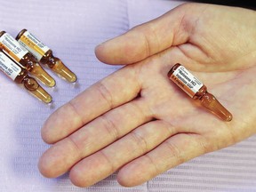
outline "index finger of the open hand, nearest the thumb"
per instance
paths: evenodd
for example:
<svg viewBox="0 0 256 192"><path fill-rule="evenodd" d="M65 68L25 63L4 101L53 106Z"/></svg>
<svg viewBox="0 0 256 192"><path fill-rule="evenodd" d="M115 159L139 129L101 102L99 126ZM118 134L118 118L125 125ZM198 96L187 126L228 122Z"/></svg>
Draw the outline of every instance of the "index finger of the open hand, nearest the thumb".
<svg viewBox="0 0 256 192"><path fill-rule="evenodd" d="M136 73L132 66L122 68L59 108L43 126L43 140L57 142L111 108L134 99L140 92Z"/></svg>

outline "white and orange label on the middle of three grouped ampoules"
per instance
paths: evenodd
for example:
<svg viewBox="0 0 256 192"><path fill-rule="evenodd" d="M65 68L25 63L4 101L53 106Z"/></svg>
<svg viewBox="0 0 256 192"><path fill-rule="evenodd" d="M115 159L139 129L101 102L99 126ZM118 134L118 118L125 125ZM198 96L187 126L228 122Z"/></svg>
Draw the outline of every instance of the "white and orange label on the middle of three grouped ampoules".
<svg viewBox="0 0 256 192"><path fill-rule="evenodd" d="M19 42L8 33L4 33L3 36L0 36L0 48L7 52L13 60L16 60L17 62L28 53L28 50L22 47Z"/></svg>

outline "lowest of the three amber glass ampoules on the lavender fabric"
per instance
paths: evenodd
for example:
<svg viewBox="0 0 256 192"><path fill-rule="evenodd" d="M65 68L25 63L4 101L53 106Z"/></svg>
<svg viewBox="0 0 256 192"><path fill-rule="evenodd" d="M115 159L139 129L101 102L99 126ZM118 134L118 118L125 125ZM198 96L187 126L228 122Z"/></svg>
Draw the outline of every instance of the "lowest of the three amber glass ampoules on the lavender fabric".
<svg viewBox="0 0 256 192"><path fill-rule="evenodd" d="M37 99L43 100L45 103L52 102L52 96L45 92L34 78L28 76L28 71L20 67L2 51L0 51L0 70L15 83L23 84L28 92L36 96Z"/></svg>

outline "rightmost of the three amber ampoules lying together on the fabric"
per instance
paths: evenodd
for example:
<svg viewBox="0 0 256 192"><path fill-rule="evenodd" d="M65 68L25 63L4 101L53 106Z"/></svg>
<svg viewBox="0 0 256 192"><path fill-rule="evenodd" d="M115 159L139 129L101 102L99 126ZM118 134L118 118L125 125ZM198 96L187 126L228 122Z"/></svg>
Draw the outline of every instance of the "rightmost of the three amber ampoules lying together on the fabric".
<svg viewBox="0 0 256 192"><path fill-rule="evenodd" d="M68 82L76 82L76 75L59 58L54 57L52 50L38 40L36 36L33 36L27 29L21 30L16 39L36 57L40 64L52 68L52 71L62 76Z"/></svg>

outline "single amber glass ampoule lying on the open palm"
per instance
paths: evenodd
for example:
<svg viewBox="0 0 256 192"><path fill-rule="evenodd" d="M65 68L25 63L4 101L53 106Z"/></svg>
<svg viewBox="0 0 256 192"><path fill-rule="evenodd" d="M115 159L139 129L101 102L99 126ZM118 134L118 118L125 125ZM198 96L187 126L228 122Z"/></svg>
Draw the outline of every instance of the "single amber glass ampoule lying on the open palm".
<svg viewBox="0 0 256 192"><path fill-rule="evenodd" d="M175 64L168 73L168 77L177 84L184 92L195 100L201 100L204 108L209 109L213 114L224 121L231 121L231 113L224 108L218 100L209 92L207 87L193 76L188 69L180 63Z"/></svg>

